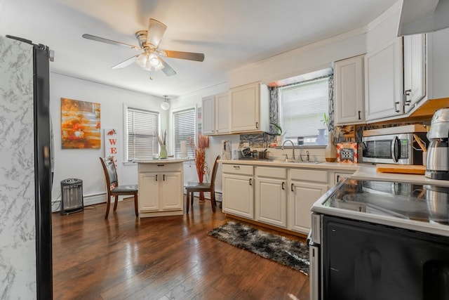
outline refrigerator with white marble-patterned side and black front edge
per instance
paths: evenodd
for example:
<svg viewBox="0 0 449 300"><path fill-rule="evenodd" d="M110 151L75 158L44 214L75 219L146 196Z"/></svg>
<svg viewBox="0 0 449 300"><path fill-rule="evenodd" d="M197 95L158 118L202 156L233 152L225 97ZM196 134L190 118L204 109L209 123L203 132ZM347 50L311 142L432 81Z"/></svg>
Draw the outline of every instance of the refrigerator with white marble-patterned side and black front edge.
<svg viewBox="0 0 449 300"><path fill-rule="evenodd" d="M0 37L0 299L52 299L47 46Z"/></svg>

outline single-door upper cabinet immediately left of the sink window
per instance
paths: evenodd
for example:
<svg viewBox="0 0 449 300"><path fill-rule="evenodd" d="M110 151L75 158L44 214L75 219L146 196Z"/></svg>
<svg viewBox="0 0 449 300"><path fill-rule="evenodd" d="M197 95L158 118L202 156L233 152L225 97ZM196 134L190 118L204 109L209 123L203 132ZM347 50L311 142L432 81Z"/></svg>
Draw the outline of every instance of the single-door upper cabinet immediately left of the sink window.
<svg viewBox="0 0 449 300"><path fill-rule="evenodd" d="M231 131L269 131L269 91L267 86L254 82L230 90Z"/></svg>

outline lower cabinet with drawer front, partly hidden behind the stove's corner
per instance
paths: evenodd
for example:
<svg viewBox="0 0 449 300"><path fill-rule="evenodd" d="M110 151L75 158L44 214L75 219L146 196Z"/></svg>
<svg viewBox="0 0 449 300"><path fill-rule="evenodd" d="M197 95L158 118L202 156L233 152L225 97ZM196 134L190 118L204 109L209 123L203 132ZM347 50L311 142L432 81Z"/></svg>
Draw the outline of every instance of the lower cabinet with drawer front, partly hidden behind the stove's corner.
<svg viewBox="0 0 449 300"><path fill-rule="evenodd" d="M288 229L307 235L311 226L311 206L328 191L328 172L290 169L289 179Z"/></svg>

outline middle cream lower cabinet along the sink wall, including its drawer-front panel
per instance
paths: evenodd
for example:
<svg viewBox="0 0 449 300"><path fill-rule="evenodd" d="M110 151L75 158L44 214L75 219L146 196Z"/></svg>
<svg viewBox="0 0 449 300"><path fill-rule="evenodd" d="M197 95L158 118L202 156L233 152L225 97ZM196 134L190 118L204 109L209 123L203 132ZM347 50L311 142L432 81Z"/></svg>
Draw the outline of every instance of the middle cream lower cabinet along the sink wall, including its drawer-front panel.
<svg viewBox="0 0 449 300"><path fill-rule="evenodd" d="M255 167L255 220L287 228L287 170Z"/></svg>

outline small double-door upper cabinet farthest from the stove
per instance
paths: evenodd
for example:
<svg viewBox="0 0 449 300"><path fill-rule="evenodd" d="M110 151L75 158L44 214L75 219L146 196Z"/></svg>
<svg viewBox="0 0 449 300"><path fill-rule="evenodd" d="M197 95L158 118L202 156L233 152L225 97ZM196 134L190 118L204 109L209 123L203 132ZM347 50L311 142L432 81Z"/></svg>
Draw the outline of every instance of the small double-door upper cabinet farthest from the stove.
<svg viewBox="0 0 449 300"><path fill-rule="evenodd" d="M203 134L229 134L229 94L204 97L201 112L203 117Z"/></svg>

